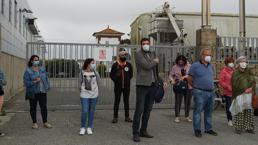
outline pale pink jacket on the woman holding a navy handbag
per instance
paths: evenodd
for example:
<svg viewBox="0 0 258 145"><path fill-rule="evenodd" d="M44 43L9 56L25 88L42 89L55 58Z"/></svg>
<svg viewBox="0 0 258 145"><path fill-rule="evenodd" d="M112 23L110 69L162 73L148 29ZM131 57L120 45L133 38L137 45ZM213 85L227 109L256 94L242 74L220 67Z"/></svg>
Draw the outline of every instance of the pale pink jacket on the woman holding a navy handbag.
<svg viewBox="0 0 258 145"><path fill-rule="evenodd" d="M185 65L185 76L186 78L188 77L188 71L189 71L189 68L191 67L191 64L186 64ZM182 73L181 73L181 69L183 69L180 65L175 65L173 66L172 68L172 71L169 75L169 81L172 81L174 80L174 78L176 77L176 79L179 79L179 77L182 77ZM175 81L175 80L174 80ZM188 83L188 89L193 89L193 87L191 87Z"/></svg>

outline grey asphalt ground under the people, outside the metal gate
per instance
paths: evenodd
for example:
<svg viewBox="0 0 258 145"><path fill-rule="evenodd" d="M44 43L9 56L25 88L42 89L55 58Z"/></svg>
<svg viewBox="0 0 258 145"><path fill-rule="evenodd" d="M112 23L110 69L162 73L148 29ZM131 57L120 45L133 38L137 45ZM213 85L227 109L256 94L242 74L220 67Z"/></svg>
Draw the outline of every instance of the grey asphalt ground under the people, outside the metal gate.
<svg viewBox="0 0 258 145"><path fill-rule="evenodd" d="M16 144L257 144L257 134L235 133L232 126L227 125L225 108L214 111L212 118L213 130L218 136L204 134L202 121L202 138L194 136L193 124L186 122L184 109L181 109L179 123L174 122L174 109L153 109L148 122L147 131L153 138L142 138L141 142L133 142L132 123L124 122L124 110L119 110L118 122L112 124L113 110L95 110L92 131L93 135L80 136L81 111L49 111L48 123L53 128L43 128L40 112L37 112L37 130L32 129L32 119L29 112L24 111L24 90L14 96L5 97L3 107L7 112L1 116L0 131L5 136L0 137L1 145ZM17 112L21 111L21 112ZM133 119L134 109L130 109ZM193 109L189 118L192 119ZM202 113L202 120L203 113ZM258 126L258 116L255 116L255 128ZM255 129L254 131L257 132Z"/></svg>

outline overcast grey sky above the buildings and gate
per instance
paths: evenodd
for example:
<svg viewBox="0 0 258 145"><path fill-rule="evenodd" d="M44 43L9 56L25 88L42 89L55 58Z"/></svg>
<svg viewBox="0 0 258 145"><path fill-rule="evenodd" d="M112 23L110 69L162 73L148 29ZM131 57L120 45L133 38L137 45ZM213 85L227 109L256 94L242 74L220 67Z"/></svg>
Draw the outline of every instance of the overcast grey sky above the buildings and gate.
<svg viewBox="0 0 258 145"><path fill-rule="evenodd" d="M201 12L201 0L167 1L170 7L176 7L175 11ZM46 42L93 44L95 37L92 34L106 29L107 25L110 29L125 33L122 39L130 38L126 34L130 33L130 24L134 19L141 13L155 11L164 3L160 0L29 1ZM257 5L257 0L246 0L246 14L258 14ZM211 13L239 13L238 7L239 0L211 0Z"/></svg>

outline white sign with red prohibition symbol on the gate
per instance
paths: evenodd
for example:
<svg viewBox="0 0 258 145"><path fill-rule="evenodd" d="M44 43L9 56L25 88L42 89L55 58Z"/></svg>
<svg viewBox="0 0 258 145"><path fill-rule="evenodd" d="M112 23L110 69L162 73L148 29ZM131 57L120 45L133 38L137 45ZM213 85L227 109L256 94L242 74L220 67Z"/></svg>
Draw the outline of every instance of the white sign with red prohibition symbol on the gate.
<svg viewBox="0 0 258 145"><path fill-rule="evenodd" d="M112 47L93 47L95 61L112 61Z"/></svg>

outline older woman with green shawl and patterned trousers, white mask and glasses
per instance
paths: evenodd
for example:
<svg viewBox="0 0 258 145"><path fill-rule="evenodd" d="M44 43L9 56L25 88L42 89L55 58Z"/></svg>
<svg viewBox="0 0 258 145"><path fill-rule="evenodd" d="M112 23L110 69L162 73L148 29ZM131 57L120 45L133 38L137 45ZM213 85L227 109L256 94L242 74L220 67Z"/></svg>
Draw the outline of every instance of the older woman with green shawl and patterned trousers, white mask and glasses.
<svg viewBox="0 0 258 145"><path fill-rule="evenodd" d="M236 134L242 134L241 130L255 134L254 116L252 107L252 91L255 93L255 77L253 71L247 67L245 56L237 58L237 67L231 77L232 105L229 111L234 114L234 127Z"/></svg>

